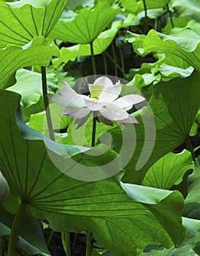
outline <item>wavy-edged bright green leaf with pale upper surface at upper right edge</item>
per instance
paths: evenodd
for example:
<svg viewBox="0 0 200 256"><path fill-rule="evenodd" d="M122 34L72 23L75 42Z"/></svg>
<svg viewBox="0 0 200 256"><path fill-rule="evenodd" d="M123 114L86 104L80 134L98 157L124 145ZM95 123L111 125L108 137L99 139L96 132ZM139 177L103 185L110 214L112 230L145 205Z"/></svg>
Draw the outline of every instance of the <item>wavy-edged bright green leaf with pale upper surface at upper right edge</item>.
<svg viewBox="0 0 200 256"><path fill-rule="evenodd" d="M200 37L190 29L174 30L170 36L153 29L147 36L127 32L126 39L141 56L153 51L171 53L200 71ZM177 67L179 67L178 63Z"/></svg>

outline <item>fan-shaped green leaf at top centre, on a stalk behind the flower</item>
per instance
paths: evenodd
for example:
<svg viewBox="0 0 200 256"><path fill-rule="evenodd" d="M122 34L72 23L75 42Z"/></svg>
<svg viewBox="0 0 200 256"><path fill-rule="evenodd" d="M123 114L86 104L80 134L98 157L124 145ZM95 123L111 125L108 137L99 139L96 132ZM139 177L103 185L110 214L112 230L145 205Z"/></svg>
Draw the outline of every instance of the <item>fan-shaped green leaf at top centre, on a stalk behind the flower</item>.
<svg viewBox="0 0 200 256"><path fill-rule="evenodd" d="M74 18L58 20L51 37L64 42L89 44L106 29L119 12L119 7L113 8L107 2L99 1L91 10L80 10Z"/></svg>

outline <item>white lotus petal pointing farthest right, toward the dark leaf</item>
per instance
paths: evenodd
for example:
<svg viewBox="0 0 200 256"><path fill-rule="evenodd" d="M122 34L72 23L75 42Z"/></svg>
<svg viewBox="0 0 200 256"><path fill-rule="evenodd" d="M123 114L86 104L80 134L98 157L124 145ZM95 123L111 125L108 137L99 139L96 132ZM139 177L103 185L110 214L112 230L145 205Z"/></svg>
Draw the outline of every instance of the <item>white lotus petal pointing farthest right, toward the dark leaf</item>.
<svg viewBox="0 0 200 256"><path fill-rule="evenodd" d="M112 102L112 104L117 105L119 108L123 108L124 110L129 110L132 108L133 105L144 101L145 98L137 95L137 94L129 94L123 97L120 97L119 99L116 99L115 102Z"/></svg>

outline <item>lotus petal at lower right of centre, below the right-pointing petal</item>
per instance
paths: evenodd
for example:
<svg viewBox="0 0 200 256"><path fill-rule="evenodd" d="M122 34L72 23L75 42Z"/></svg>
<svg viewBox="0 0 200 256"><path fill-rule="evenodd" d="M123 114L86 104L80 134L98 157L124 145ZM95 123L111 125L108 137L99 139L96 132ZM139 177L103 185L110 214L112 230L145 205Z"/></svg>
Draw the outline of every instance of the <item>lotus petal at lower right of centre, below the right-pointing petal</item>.
<svg viewBox="0 0 200 256"><path fill-rule="evenodd" d="M99 110L99 113L105 118L108 118L109 120L118 121L128 118L128 113L126 113L125 110L111 104L104 108L101 108Z"/></svg>

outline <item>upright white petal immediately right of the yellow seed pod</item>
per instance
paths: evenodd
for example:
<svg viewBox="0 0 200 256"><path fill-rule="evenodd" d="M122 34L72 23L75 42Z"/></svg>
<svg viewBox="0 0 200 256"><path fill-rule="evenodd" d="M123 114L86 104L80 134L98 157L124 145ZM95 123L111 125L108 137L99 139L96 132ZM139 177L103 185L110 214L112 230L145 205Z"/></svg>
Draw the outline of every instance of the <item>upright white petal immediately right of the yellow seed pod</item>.
<svg viewBox="0 0 200 256"><path fill-rule="evenodd" d="M120 92L121 92L120 83L116 83L116 85L112 84L112 86L104 86L104 89L99 96L99 102L111 103L118 98L118 96L120 95Z"/></svg>

